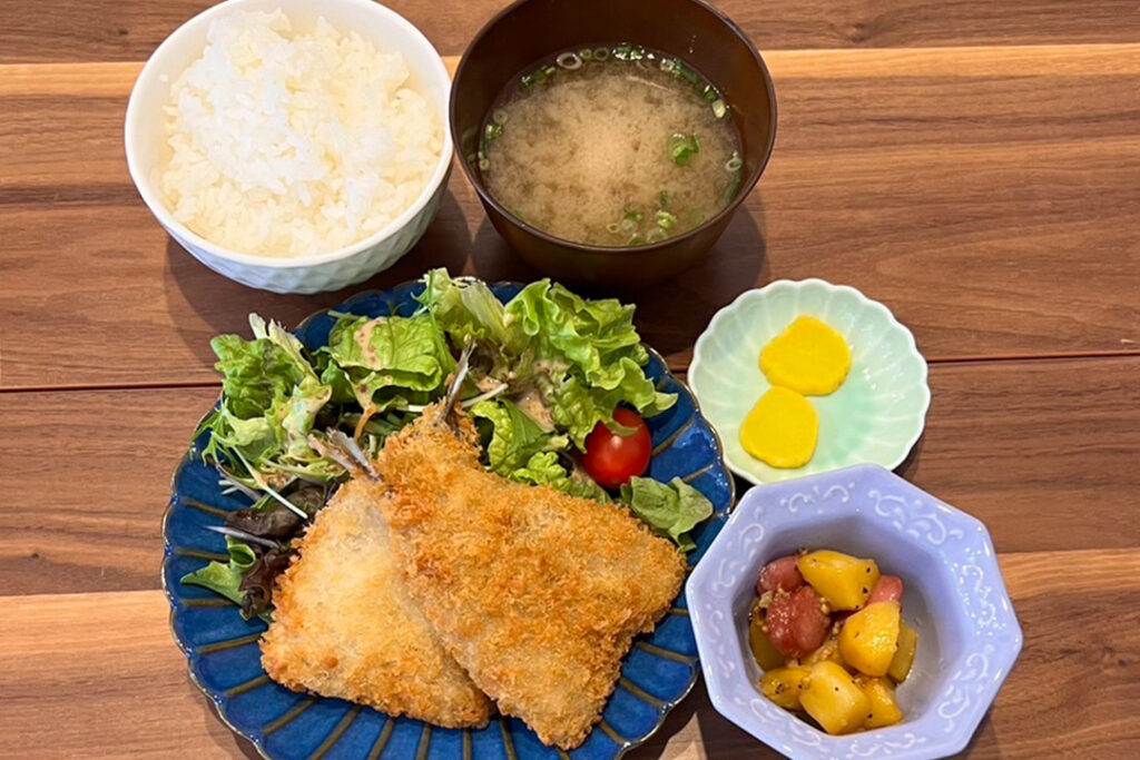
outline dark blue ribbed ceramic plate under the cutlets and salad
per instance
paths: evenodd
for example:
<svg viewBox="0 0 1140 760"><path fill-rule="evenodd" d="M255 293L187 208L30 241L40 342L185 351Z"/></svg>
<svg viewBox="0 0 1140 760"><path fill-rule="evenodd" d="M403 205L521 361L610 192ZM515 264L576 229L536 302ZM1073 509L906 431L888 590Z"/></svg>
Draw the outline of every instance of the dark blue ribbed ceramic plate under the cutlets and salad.
<svg viewBox="0 0 1140 760"><path fill-rule="evenodd" d="M408 316L423 288L408 284L384 293L363 293L335 311L380 317ZM521 285L492 286L502 301ZM309 349L328 341L334 324L327 312L306 320L296 335ZM716 538L733 504L732 476L720 444L689 390L650 352L648 375L661 391L676 393L677 403L649 419L653 460L649 475L659 481L682 477L712 501L714 516L697 529L698 548L691 564ZM190 678L218 708L236 733L274 760L613 760L660 728L666 713L697 681L697 643L684 598L651 636L637 640L621 667L621 679L600 722L577 750L564 753L543 745L515 718L494 718L481 730L453 730L420 720L390 718L372 708L342 700L298 694L269 680L261 668L258 639L266 630L259 620L242 619L238 608L213 593L184 586L179 579L207 562L226 562L225 539L205 525L220 525L225 514L249 506L238 495L223 495L213 468L187 457L174 474L173 495L163 521L166 550L163 588L171 604L171 627L189 662Z"/></svg>

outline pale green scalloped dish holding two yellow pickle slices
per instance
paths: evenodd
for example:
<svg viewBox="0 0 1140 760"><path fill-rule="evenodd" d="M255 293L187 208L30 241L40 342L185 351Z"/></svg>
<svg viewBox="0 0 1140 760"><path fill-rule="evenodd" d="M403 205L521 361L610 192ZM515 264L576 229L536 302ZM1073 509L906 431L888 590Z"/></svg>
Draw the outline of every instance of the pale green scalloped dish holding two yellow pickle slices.
<svg viewBox="0 0 1140 760"><path fill-rule="evenodd" d="M808 397L820 416L811 461L780 469L744 451L740 426L772 387L760 352L797 317L814 317L842 335L853 362L838 391ZM926 360L911 332L881 303L820 279L776 280L718 311L697 341L689 383L720 435L728 468L754 483L860 464L893 469L921 436L930 406Z"/></svg>

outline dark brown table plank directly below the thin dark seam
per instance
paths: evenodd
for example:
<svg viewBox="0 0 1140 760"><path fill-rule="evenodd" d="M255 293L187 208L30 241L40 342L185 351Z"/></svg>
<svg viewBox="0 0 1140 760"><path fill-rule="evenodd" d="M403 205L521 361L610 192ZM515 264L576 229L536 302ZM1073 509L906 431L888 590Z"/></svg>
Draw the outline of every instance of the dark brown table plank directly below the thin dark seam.
<svg viewBox="0 0 1140 760"><path fill-rule="evenodd" d="M1140 547L1140 524L1121 520L1140 492L1138 375L1140 357L936 365L926 434L899 472L985 521L999 551ZM217 397L0 394L0 441L15 443L0 493L23 495L0 510L0 589L158 588L170 477Z"/></svg>

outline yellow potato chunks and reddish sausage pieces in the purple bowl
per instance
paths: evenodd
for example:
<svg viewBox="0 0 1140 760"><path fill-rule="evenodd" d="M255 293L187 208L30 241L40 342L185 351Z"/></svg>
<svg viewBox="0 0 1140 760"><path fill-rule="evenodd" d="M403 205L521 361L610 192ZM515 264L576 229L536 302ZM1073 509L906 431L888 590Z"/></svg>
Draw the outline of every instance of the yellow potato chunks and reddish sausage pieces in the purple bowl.
<svg viewBox="0 0 1140 760"><path fill-rule="evenodd" d="M902 620L901 579L873 559L821 549L769 562L756 591L749 639L764 696L829 734L903 719L895 686L919 637Z"/></svg>

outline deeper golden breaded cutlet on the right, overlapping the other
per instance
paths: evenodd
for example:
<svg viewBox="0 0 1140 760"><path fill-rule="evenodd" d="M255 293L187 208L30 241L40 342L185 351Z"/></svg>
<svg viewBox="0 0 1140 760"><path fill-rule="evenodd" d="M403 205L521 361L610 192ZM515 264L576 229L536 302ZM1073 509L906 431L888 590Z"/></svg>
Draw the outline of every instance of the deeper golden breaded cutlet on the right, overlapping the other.
<svg viewBox="0 0 1140 760"><path fill-rule="evenodd" d="M380 502L412 596L439 640L505 714L578 746L634 636L685 577L684 555L627 510L484 471L474 430L429 410L377 461Z"/></svg>

